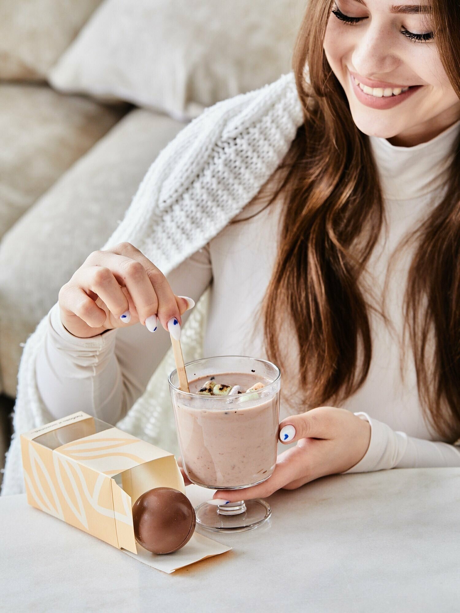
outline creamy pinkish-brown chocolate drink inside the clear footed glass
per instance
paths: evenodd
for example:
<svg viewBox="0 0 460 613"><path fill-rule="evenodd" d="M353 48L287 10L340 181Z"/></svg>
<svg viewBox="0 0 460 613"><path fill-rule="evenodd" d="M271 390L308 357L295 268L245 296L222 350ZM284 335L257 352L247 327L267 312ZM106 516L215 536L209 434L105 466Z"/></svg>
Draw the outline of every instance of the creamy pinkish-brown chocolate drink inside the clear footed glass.
<svg viewBox="0 0 460 613"><path fill-rule="evenodd" d="M194 483L217 489L264 481L277 458L279 383L270 385L257 372L221 372L214 378L244 390L258 382L264 388L257 394L204 396L197 392L212 375L189 379L193 396L173 398L186 474Z"/></svg>

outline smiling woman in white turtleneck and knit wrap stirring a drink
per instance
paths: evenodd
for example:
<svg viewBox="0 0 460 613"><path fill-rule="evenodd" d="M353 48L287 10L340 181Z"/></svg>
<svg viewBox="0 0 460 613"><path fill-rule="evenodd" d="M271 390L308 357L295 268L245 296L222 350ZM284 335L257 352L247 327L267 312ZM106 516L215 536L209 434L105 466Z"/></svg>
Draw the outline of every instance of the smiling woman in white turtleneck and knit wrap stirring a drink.
<svg viewBox="0 0 460 613"><path fill-rule="evenodd" d="M301 119L283 77L178 135L26 343L17 414L33 376L31 403L52 417L115 423L169 346L156 330L179 337L211 283L205 354L280 365L280 441L297 441L245 499L326 474L460 465L459 20L448 0L310 0L294 53ZM239 204L213 200L223 193Z"/></svg>

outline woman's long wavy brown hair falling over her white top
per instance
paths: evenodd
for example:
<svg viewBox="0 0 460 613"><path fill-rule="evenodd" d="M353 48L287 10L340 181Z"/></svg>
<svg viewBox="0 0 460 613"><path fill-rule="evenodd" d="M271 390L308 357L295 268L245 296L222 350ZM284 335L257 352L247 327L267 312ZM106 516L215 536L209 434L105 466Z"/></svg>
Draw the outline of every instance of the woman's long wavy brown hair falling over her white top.
<svg viewBox="0 0 460 613"><path fill-rule="evenodd" d="M264 340L269 359L283 368L278 322L287 313L299 343L305 409L337 405L366 379L372 356L368 313L376 309L365 297L361 273L386 225L369 139L356 127L320 44L331 4L309 0L297 37L293 69L304 124L268 203L283 192L277 260L263 301ZM433 0L431 20L460 99L459 2ZM442 202L408 240L416 248L404 295L404 332L424 415L454 441L460 436L460 139Z"/></svg>

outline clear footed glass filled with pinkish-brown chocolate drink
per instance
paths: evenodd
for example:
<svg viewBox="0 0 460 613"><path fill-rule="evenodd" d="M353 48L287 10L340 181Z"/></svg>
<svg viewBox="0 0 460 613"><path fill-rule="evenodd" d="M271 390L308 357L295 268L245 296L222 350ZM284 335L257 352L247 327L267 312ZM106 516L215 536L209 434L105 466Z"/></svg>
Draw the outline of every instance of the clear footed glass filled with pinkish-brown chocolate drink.
<svg viewBox="0 0 460 613"><path fill-rule="evenodd" d="M217 490L239 490L266 481L275 470L280 411L280 369L267 360L220 356L185 365L191 389L205 380L237 385L245 381L262 389L234 396L202 395L179 389L177 370L169 375L169 391L183 469L190 481ZM231 373L231 376L228 376ZM199 387L193 381L201 379ZM244 492L242 492L244 496ZM250 530L270 516L260 498L195 509L197 524L217 531Z"/></svg>

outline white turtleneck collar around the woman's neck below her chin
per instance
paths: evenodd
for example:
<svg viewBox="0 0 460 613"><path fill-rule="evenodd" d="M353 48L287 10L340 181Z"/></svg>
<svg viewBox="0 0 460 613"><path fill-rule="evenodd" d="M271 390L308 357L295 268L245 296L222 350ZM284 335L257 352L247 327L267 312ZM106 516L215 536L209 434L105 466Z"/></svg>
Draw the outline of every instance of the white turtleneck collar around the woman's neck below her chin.
<svg viewBox="0 0 460 613"><path fill-rule="evenodd" d="M380 173L383 196L410 200L440 188L453 158L460 120L431 140L413 147L397 147L379 136L369 136Z"/></svg>

